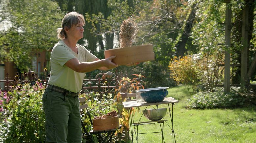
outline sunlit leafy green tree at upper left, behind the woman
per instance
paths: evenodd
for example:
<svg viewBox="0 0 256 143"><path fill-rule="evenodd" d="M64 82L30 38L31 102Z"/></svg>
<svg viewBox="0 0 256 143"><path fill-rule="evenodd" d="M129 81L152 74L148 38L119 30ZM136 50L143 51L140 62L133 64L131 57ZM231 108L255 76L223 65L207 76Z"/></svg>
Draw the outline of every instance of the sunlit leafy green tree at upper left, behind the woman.
<svg viewBox="0 0 256 143"><path fill-rule="evenodd" d="M20 70L27 71L34 52L48 50L57 42L56 29L62 18L61 10L51 0L6 2L2 10L9 26L0 31L0 60L13 61Z"/></svg>

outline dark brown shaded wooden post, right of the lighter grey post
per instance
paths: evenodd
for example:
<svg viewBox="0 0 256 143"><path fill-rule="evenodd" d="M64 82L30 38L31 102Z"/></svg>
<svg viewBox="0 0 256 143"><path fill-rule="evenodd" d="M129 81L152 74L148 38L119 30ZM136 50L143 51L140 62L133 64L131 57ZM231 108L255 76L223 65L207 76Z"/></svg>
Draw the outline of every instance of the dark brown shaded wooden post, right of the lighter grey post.
<svg viewBox="0 0 256 143"><path fill-rule="evenodd" d="M242 18L242 51L241 51L241 87L247 84L247 59L248 59L248 15L249 7L243 8Z"/></svg>

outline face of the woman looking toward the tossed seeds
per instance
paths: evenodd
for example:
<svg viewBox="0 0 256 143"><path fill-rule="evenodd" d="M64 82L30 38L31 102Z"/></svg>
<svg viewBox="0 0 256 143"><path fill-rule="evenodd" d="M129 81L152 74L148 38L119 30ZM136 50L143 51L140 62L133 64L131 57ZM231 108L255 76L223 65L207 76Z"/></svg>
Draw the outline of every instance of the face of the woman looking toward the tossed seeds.
<svg viewBox="0 0 256 143"><path fill-rule="evenodd" d="M84 37L84 28L83 28L83 22L81 18L79 18L79 23L76 25L72 25L72 27L69 30L69 35L74 37L75 39L79 40Z"/></svg>

